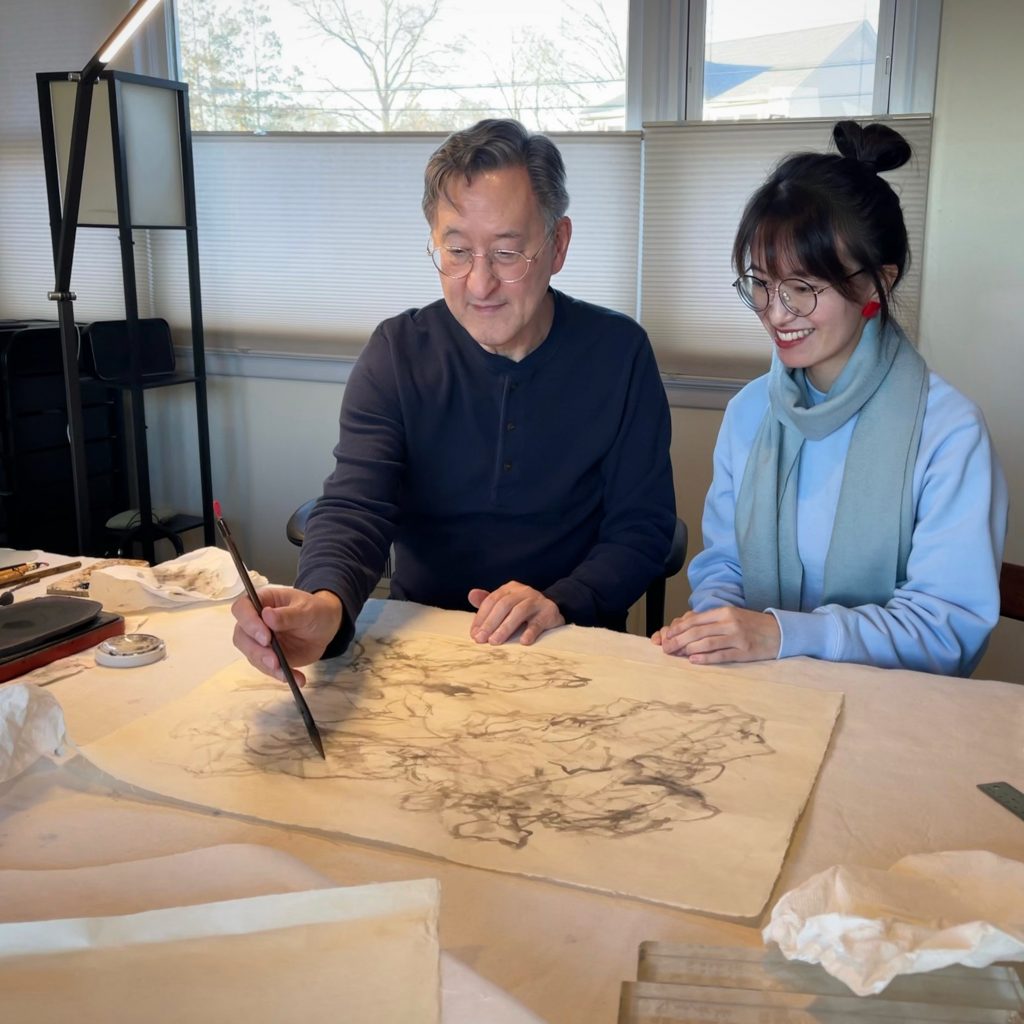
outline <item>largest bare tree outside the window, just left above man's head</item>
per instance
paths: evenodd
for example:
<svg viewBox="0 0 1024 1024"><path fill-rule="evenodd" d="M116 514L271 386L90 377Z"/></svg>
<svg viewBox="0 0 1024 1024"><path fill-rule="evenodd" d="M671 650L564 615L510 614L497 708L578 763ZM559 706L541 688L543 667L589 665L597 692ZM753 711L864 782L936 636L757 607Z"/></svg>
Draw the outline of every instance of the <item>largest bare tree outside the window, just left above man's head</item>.
<svg viewBox="0 0 1024 1024"><path fill-rule="evenodd" d="M443 0L410 3L379 0L376 10L358 9L349 0L291 0L324 35L358 59L369 87L358 89L328 79L351 104L343 118L364 131L421 127L429 116L419 106L426 84L444 70L442 58L458 45L432 45L425 30Z"/></svg>

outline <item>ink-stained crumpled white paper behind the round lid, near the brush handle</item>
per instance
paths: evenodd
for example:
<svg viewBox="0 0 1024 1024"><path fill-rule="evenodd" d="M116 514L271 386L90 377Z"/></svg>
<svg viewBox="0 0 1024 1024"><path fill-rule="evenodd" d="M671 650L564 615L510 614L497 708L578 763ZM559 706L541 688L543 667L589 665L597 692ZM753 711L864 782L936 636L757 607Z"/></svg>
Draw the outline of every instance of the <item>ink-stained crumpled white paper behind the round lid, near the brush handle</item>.
<svg viewBox="0 0 1024 1024"><path fill-rule="evenodd" d="M267 580L249 570L257 587ZM242 593L231 556L221 548L200 548L159 565L111 565L89 577L89 597L106 611L175 608L201 601L225 601Z"/></svg>

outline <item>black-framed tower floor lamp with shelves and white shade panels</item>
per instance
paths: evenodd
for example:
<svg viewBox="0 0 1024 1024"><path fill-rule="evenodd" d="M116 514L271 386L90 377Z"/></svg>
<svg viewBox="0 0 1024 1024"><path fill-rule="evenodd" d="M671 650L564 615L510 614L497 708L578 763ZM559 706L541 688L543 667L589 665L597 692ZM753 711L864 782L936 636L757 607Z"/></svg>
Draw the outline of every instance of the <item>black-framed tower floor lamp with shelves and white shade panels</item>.
<svg viewBox="0 0 1024 1024"><path fill-rule="evenodd" d="M75 325L80 329L79 355L75 358L71 345L71 325L74 324L73 298L70 290L71 262L68 258L73 253L74 232L69 232L63 224L66 215L61 175L58 169L57 127L63 131L68 125L70 112L78 116L79 90L81 79L74 84L75 76L67 73L45 73L36 76L39 93L40 125L43 141L43 165L46 171L47 200L50 212L50 225L54 253L54 266L57 270L57 281L60 287L57 291L63 296L59 300L58 321L67 325L67 329L58 335L60 343L60 372L73 376L74 384L69 384L69 394L81 394L73 408L68 409L68 431L71 439L71 469L73 481L76 484L74 495L74 512L76 514L76 531L79 544L89 543L81 535L94 535L98 523L104 543L110 538L118 538L122 546L138 544L142 548L142 556L153 562L154 546L157 541L170 541L178 554L182 553L182 543L178 535L187 530L202 528L204 543L211 546L216 543L216 527L213 519L213 482L210 460L210 427L207 411L206 374L203 358L203 315L200 301L199 272L199 242L196 231L196 190L191 156L191 133L188 127L187 86L181 82L169 79L148 78L132 75L121 71L103 70L95 78L94 105L92 121L88 124L74 124L76 131L71 131L70 139L61 139L70 150L72 143L78 148L68 157L66 166L74 166L75 160L81 160L83 174L89 176L90 151L86 146L88 125L100 122L104 133L109 131L110 152L103 160L105 164L93 164L95 179L102 189L90 199L89 205L83 207L76 204L68 215L74 215L76 229L84 226L115 228L121 251L121 278L124 291L124 317L116 321L97 321L89 325ZM69 83L72 84L69 84ZM92 84L90 82L89 88ZM104 110L105 108L105 110ZM87 108L85 108L87 110ZM132 112L135 113L132 113ZM65 120L56 116L62 112ZM144 112L144 114L142 113ZM138 163L137 157L142 152L138 145L129 139L132 131L138 133L140 122L146 121L144 146L152 156L156 146L163 160L169 160L166 175L140 175L145 166ZM134 127L133 127L134 126ZM95 127L93 125L93 127ZM139 139L139 142L142 140ZM96 152L99 151L97 144ZM172 166L177 163L178 166ZM134 167L134 171L133 171ZM108 169L109 168L109 169ZM111 175L113 170L113 180ZM133 174L135 176L133 176ZM129 201L128 182L132 182L132 196ZM136 188L136 181L140 187ZM153 188L144 187L153 184ZM133 213L133 204L137 204ZM116 211L114 223L96 223L97 218L106 220L110 210ZM101 210L102 213L92 211ZM138 221L136 223L136 221ZM143 223L145 221L145 223ZM136 228L181 230L185 241L185 261L188 275L188 328L191 334L193 364L185 372L177 371L174 364L173 343L170 328L166 321L159 316L140 316L138 308L136 252L133 231ZM63 245L71 239L72 248ZM65 279L67 278L67 281ZM124 429L119 431L118 440L121 449L122 462L134 470L129 482L131 497L118 496L117 507L153 508L153 496L150 481L150 455L147 451L147 430L145 416L146 391L155 388L175 387L187 384L195 389L196 409L196 439L198 441L198 470L200 492L202 495L203 515L187 515L177 513L165 522L138 524L129 529L110 529L105 521L111 513L97 521L88 516L88 506L92 504L92 496L88 488L85 459L79 454L84 446L83 438L86 428L91 426L86 422L84 411L87 408L89 392L102 391L112 396L112 406L123 414ZM36 407L42 402L34 403ZM163 412L161 403L155 402L158 414ZM44 420L39 420L41 426L48 426ZM34 424L35 425L35 424ZM56 443L59 438L47 434L47 443ZM85 495L86 498L81 496ZM174 508L173 498L168 496L169 507ZM110 504L110 503L108 503ZM67 511L67 503L65 503ZM91 518L91 521L90 521ZM54 549L56 550L56 549ZM83 550L83 554L90 552Z"/></svg>

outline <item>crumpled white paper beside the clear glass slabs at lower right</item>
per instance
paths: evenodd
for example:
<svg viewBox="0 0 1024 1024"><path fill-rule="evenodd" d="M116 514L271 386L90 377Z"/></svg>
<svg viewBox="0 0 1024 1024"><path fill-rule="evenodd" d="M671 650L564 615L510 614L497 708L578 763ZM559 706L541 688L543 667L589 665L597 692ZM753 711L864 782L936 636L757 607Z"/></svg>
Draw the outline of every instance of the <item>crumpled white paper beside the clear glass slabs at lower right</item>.
<svg viewBox="0 0 1024 1024"><path fill-rule="evenodd" d="M782 896L762 933L857 995L898 974L1024 959L1024 863L985 850L837 865Z"/></svg>

